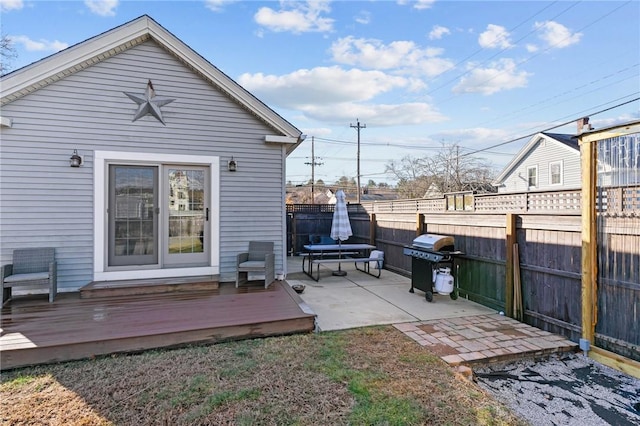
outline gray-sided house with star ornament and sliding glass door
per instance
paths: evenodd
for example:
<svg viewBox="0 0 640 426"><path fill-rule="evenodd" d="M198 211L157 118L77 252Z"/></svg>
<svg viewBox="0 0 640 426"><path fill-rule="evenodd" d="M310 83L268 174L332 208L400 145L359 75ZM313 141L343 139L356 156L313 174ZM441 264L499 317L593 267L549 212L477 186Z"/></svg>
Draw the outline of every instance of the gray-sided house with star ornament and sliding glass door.
<svg viewBox="0 0 640 426"><path fill-rule="evenodd" d="M2 264L55 247L62 291L224 282L269 240L286 273L285 164L304 136L150 17L0 83Z"/></svg>

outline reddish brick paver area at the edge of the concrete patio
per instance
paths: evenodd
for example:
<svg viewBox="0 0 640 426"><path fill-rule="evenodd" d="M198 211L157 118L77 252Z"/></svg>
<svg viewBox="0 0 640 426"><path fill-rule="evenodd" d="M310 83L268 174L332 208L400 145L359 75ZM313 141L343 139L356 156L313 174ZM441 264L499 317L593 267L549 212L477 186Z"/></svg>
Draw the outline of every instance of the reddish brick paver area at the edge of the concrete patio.
<svg viewBox="0 0 640 426"><path fill-rule="evenodd" d="M449 365L575 351L577 344L503 315L478 315L395 324Z"/></svg>

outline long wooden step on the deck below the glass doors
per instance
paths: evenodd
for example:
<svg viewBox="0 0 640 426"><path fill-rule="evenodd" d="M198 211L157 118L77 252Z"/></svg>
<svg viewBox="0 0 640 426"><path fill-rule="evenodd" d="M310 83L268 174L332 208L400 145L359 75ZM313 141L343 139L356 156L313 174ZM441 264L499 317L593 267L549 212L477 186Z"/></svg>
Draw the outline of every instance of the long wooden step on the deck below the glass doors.
<svg viewBox="0 0 640 426"><path fill-rule="evenodd" d="M220 282L211 275L144 280L93 281L80 289L81 299L113 296L217 290Z"/></svg>

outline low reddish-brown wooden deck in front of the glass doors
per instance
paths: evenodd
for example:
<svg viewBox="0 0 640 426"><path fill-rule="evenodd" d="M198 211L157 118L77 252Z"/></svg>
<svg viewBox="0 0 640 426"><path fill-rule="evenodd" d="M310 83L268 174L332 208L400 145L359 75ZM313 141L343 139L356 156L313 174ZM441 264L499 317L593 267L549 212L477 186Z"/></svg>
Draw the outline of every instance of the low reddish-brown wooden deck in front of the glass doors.
<svg viewBox="0 0 640 426"><path fill-rule="evenodd" d="M2 308L0 369L191 343L308 333L315 314L284 281L268 289L222 283L207 291L11 300Z"/></svg>

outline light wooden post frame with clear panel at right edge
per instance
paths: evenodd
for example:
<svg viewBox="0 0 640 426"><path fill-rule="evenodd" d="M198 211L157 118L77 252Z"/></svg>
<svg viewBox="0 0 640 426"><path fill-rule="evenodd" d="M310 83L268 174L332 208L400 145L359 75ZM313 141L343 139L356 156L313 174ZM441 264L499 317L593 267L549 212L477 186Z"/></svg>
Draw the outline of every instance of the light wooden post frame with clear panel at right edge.
<svg viewBox="0 0 640 426"><path fill-rule="evenodd" d="M580 347L640 376L640 121L584 133L579 144Z"/></svg>

